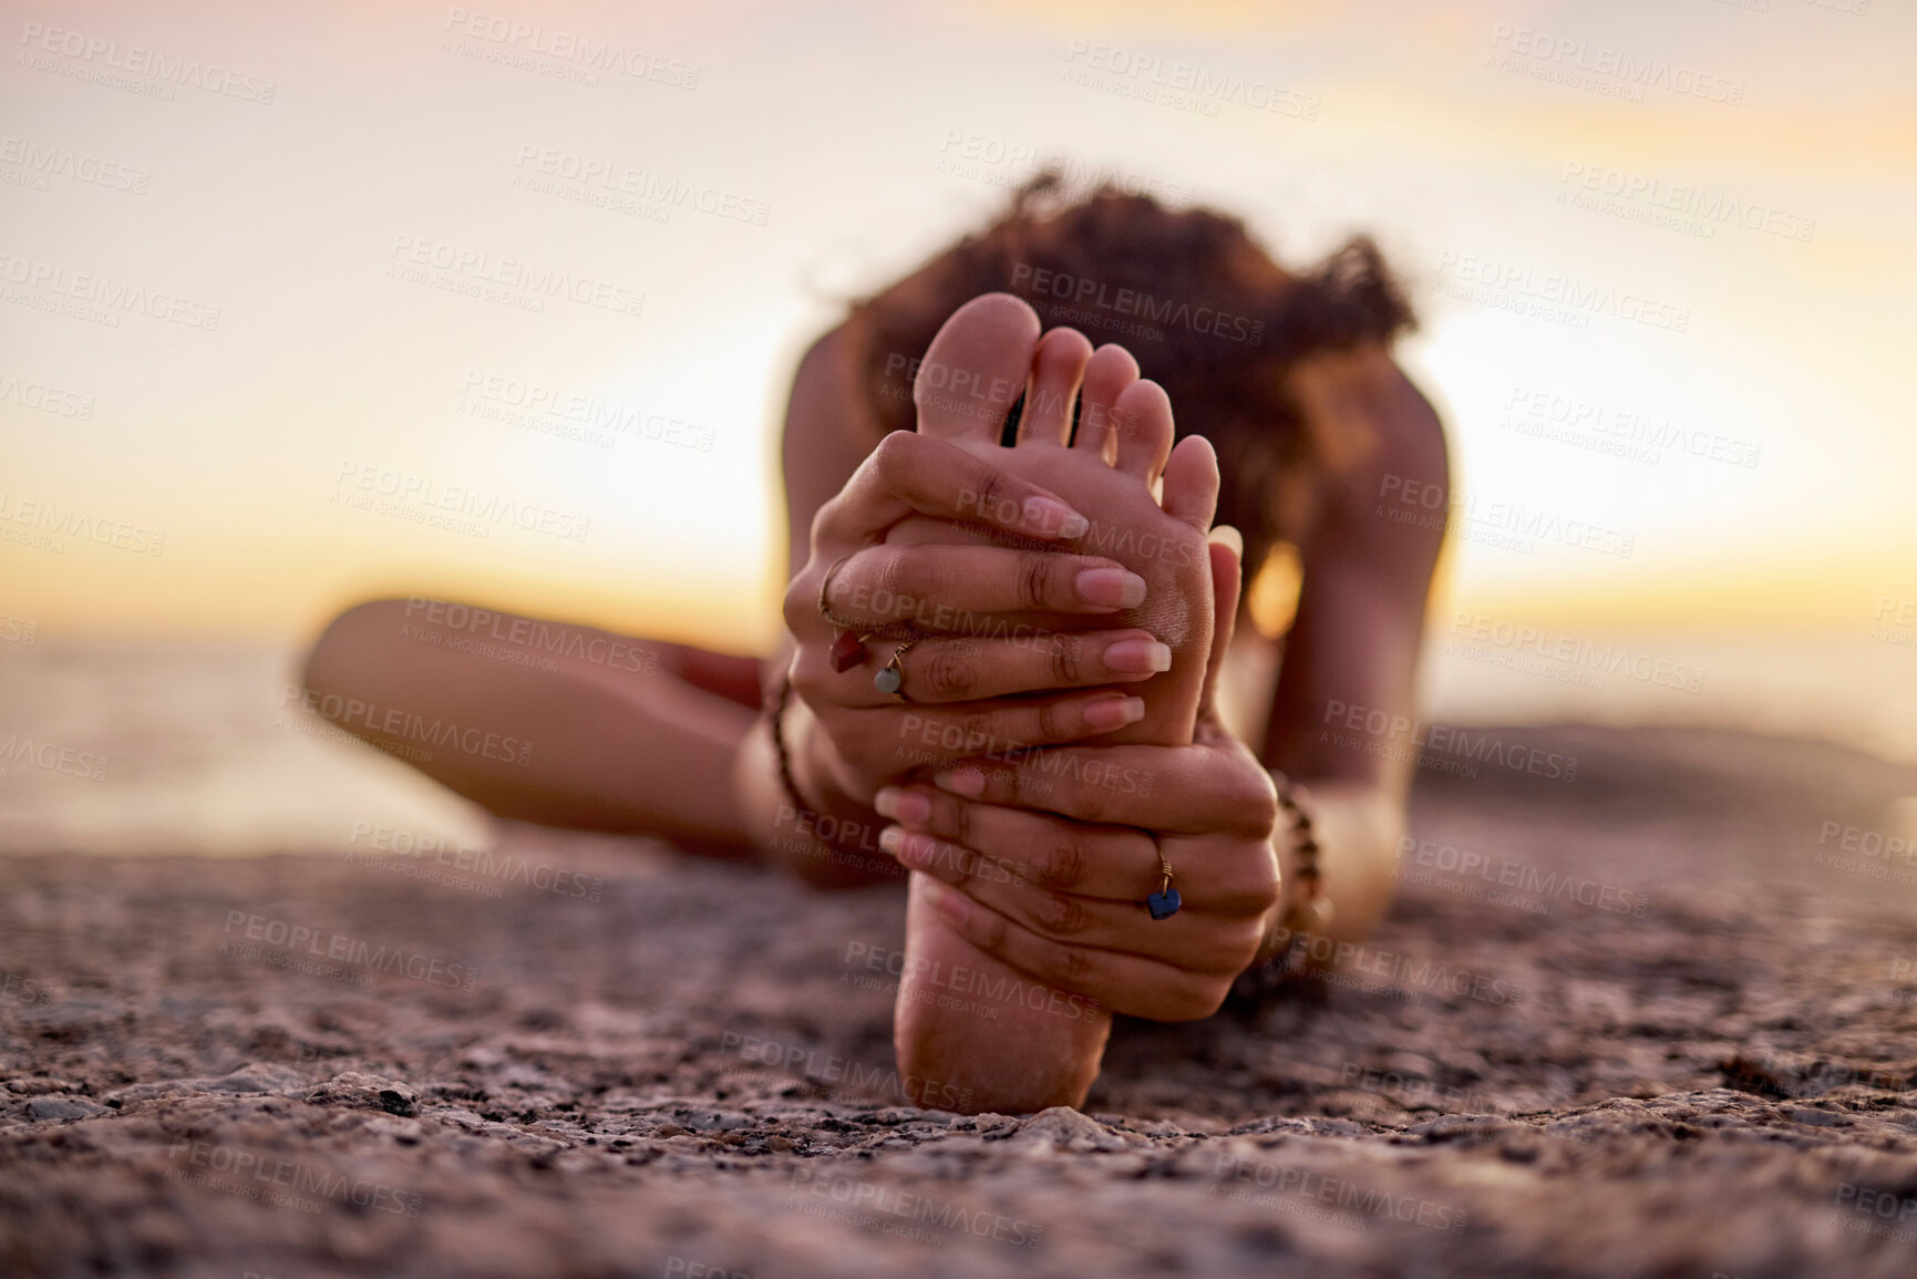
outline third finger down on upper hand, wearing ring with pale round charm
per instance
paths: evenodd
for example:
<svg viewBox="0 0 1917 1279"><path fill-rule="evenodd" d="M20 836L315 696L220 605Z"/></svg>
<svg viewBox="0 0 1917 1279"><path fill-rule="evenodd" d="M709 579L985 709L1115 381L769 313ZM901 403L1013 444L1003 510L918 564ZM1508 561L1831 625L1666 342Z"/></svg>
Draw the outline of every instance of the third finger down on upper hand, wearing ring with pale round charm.
<svg viewBox="0 0 1917 1279"><path fill-rule="evenodd" d="M912 702L980 702L1052 688L1127 685L1169 669L1171 648L1150 631L1068 635L1020 623L1010 639L918 640L899 654L899 686ZM870 685L870 675L865 681ZM872 704L878 706L876 700Z"/></svg>

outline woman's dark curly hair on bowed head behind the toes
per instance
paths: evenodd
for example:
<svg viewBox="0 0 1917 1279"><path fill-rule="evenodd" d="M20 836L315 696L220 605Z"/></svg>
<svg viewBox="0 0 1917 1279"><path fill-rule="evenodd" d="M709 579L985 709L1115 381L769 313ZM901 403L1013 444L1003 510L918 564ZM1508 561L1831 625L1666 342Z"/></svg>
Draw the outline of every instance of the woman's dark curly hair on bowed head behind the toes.
<svg viewBox="0 0 1917 1279"><path fill-rule="evenodd" d="M1179 437L1204 435L1217 449L1219 520L1244 535L1254 571L1275 543L1300 539L1315 472L1348 453L1311 439L1292 368L1325 351L1390 345L1417 324L1367 236L1294 274L1235 217L1169 209L1110 184L1074 198L1047 171L991 226L853 303L851 359L884 431L912 430L901 368L916 368L953 311L993 291L1024 297L1047 328L1123 345L1166 387Z"/></svg>

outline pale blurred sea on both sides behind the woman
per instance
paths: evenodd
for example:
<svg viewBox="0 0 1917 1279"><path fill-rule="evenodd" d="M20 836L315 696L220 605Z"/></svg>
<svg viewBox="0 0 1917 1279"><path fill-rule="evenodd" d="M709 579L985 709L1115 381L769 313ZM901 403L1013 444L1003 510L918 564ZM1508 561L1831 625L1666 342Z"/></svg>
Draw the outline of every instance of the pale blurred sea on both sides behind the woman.
<svg viewBox="0 0 1917 1279"><path fill-rule="evenodd" d="M475 805L303 713L295 663L289 646L0 644L0 853L489 838ZM1426 721L1451 725L1744 729L1917 763L1917 650L1890 642L1440 637L1422 688Z"/></svg>

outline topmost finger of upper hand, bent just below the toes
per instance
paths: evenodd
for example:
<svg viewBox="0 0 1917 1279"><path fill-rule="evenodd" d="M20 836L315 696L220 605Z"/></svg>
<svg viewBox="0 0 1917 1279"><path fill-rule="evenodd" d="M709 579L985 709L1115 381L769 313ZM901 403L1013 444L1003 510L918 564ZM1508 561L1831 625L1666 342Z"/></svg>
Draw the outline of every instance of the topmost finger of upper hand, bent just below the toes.
<svg viewBox="0 0 1917 1279"><path fill-rule="evenodd" d="M813 520L813 545L865 545L905 516L957 520L1020 537L1081 537L1091 522L1058 495L964 449L893 431Z"/></svg>

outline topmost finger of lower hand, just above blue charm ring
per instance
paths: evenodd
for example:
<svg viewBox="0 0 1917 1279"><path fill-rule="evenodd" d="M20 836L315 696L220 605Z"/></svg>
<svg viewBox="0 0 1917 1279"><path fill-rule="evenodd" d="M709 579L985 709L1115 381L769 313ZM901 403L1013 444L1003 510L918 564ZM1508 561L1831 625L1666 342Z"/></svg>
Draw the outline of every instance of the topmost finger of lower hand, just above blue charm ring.
<svg viewBox="0 0 1917 1279"><path fill-rule="evenodd" d="M1190 746L1062 746L939 771L939 790L1075 821L1271 838L1279 798L1250 754Z"/></svg>

